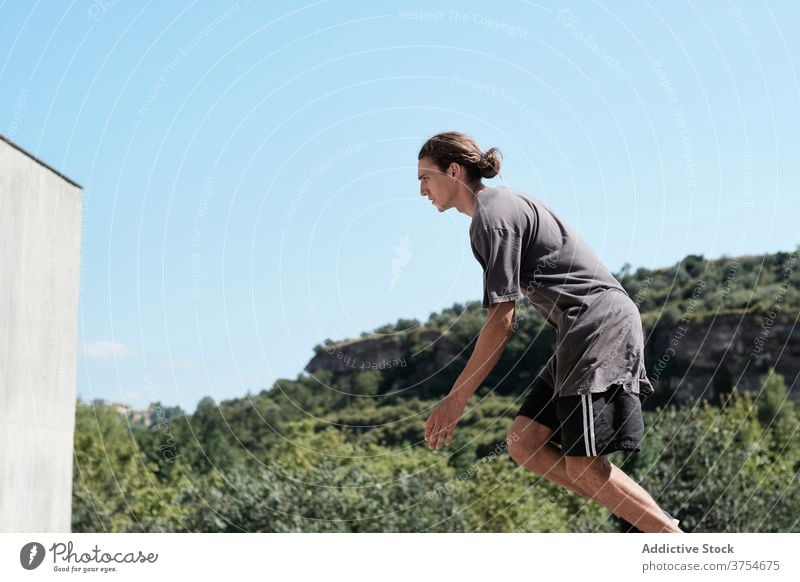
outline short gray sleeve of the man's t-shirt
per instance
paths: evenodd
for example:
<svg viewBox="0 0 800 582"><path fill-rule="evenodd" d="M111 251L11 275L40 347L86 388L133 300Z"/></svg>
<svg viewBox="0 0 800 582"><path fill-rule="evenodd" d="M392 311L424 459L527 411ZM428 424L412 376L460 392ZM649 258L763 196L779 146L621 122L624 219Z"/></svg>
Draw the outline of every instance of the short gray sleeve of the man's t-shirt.
<svg viewBox="0 0 800 582"><path fill-rule="evenodd" d="M483 267L483 307L523 297L519 235L504 228L480 231L472 237L472 253Z"/></svg>

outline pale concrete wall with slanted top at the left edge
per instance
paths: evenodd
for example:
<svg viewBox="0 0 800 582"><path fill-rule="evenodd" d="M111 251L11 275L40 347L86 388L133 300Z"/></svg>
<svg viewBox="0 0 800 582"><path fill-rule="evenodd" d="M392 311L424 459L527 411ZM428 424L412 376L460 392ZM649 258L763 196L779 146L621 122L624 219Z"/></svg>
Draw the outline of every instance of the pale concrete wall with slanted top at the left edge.
<svg viewBox="0 0 800 582"><path fill-rule="evenodd" d="M70 531L80 238L80 187L0 139L2 532Z"/></svg>

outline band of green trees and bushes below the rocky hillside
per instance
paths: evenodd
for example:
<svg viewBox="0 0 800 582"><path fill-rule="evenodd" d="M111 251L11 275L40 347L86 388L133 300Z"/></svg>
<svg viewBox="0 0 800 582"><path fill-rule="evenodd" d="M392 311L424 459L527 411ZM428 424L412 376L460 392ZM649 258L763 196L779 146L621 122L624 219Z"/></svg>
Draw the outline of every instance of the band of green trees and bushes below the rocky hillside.
<svg viewBox="0 0 800 582"><path fill-rule="evenodd" d="M298 396L295 387L295 396ZM310 394L307 395L310 398ZM618 531L600 505L517 466L505 434L512 397L473 397L451 447L422 441L435 401L344 406L259 425L271 393L128 427L78 407L73 530L203 532ZM800 407L770 371L758 394L645 413L643 450L612 461L689 531L800 531ZM255 430L255 426L262 426Z"/></svg>

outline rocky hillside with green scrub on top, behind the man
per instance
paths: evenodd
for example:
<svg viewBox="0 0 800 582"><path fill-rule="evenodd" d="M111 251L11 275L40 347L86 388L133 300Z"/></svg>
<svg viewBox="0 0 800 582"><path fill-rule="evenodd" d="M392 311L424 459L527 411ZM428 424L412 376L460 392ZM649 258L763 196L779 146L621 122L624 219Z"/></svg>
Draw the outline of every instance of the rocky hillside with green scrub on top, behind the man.
<svg viewBox="0 0 800 582"><path fill-rule="evenodd" d="M800 247L798 247L800 249ZM718 402L734 387L757 389L774 367L790 395L800 372L798 250L706 260L689 255L662 269L615 273L639 307L648 375L656 395L647 405L704 397ZM553 351L554 334L525 301L519 328L486 389L520 394ZM478 301L456 304L428 321L400 320L358 339L315 346L305 371L334 378L380 374L375 394L403 391L429 398L452 386L472 351L484 317Z"/></svg>

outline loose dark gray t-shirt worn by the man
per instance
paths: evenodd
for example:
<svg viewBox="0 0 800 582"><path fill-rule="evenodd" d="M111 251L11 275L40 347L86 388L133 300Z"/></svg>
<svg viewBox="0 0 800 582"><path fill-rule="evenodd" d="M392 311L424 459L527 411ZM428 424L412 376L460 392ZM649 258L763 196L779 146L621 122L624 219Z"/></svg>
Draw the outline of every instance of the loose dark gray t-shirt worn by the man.
<svg viewBox="0 0 800 582"><path fill-rule="evenodd" d="M636 305L547 204L511 188L486 188L469 232L483 267L483 307L526 297L556 328L556 351L540 378L559 396L604 392L611 384L653 392Z"/></svg>

